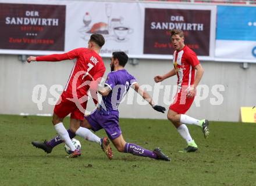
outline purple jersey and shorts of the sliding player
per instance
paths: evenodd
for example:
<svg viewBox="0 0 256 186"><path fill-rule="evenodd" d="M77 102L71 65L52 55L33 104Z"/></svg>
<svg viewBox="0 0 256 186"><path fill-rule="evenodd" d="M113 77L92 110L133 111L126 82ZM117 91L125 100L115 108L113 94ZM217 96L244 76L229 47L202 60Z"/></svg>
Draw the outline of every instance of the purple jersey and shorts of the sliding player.
<svg viewBox="0 0 256 186"><path fill-rule="evenodd" d="M102 96L99 109L85 117L95 132L104 129L111 140L122 134L119 126L118 105L134 83L136 83L136 79L125 69L108 74L105 86L108 86L111 92L108 96Z"/></svg>

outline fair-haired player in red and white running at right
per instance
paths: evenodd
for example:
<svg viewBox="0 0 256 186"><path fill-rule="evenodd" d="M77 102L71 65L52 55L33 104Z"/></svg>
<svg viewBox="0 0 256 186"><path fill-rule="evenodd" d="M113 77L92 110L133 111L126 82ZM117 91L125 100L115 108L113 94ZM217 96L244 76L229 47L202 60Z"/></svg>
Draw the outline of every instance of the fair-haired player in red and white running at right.
<svg viewBox="0 0 256 186"><path fill-rule="evenodd" d="M172 45L175 48L173 53L174 68L165 75L155 76L154 80L158 83L177 75L177 93L169 107L167 118L175 125L180 136L187 141L188 146L180 152L195 152L197 151L197 144L191 138L189 129L184 124L200 126L204 137L208 138L209 121L206 119L198 120L185 115L185 113L194 101L195 90L204 74L204 69L198 61L195 52L184 44L184 33L182 30L172 30L171 37Z"/></svg>

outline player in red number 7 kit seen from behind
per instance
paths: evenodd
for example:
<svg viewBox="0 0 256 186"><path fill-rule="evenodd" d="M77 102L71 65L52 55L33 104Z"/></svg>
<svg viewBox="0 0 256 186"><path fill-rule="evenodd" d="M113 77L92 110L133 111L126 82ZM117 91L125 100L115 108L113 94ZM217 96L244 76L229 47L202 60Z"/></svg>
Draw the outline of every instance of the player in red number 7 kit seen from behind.
<svg viewBox="0 0 256 186"><path fill-rule="evenodd" d="M80 127L80 122L84 119L84 111L87 105L87 91L90 88L90 90L95 90L94 93L96 93L98 83L105 73L104 62L101 56L99 56L99 50L104 43L105 39L101 34L92 34L88 41L88 48L77 48L63 54L51 54L37 57L30 56L27 59L28 63L31 61L62 61L76 59L65 90L61 94L58 103L55 105L52 119L56 132L72 151L72 154L69 156L70 158L80 156L81 152L80 149L74 147L69 133L75 133L87 140L97 142L101 144L101 146L102 143L104 143L104 147L109 145L109 140L106 137L100 139L90 130ZM62 122L63 118L69 114L70 130L67 131Z"/></svg>

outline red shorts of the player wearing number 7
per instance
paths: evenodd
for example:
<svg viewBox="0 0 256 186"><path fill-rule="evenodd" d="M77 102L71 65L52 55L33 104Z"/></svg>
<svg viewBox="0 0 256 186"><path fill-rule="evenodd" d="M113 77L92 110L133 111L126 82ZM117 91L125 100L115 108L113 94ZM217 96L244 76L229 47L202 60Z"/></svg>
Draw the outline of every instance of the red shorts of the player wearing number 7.
<svg viewBox="0 0 256 186"><path fill-rule="evenodd" d="M59 116L59 118L65 118L67 115L70 115L70 118L84 120L84 111L86 110L87 101L81 103L78 107L78 103L70 101L68 98L72 98L66 92L61 94L58 103L54 107L54 113Z"/></svg>

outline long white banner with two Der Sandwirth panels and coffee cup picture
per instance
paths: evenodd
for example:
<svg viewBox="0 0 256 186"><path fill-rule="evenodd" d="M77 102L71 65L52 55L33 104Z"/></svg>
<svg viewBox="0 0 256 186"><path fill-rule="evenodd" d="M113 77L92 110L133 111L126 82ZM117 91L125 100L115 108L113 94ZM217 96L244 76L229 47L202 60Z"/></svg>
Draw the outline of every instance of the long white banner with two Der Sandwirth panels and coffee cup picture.
<svg viewBox="0 0 256 186"><path fill-rule="evenodd" d="M105 37L101 56L171 59L170 30L182 29L201 60L214 60L216 6L167 2L3 1L0 53L51 54L87 47Z"/></svg>

